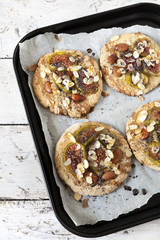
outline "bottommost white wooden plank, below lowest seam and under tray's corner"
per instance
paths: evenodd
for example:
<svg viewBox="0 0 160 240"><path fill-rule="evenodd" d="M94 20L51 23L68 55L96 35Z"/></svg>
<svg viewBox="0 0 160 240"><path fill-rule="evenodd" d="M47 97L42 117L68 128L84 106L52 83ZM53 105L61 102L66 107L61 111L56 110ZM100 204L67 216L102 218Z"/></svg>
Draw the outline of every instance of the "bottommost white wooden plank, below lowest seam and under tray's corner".
<svg viewBox="0 0 160 240"><path fill-rule="evenodd" d="M101 240L158 240L160 220L100 238ZM49 201L0 202L0 239L80 240L69 233L56 219ZM85 239L85 238L84 238ZM99 238L95 238L99 239Z"/></svg>

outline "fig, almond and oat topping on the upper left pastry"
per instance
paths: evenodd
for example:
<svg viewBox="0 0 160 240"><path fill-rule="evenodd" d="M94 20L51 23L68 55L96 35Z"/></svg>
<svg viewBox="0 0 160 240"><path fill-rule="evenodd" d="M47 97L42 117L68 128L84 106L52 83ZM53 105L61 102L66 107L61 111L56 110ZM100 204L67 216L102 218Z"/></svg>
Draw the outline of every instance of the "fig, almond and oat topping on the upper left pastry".
<svg viewBox="0 0 160 240"><path fill-rule="evenodd" d="M79 56L65 52L55 52L48 58L48 68L40 73L44 80L45 91L52 94L66 93L71 101L82 102L86 94L97 90L99 75L93 67L83 68Z"/></svg>

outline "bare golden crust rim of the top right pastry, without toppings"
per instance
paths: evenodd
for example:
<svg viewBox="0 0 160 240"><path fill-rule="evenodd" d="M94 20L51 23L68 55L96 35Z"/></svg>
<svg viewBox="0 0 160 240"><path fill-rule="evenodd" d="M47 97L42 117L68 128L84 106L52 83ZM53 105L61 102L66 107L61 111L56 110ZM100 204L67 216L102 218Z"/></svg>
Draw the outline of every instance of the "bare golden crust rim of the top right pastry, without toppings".
<svg viewBox="0 0 160 240"><path fill-rule="evenodd" d="M160 53L160 47L148 36L137 32L137 33L125 33L119 36L119 38L115 41L112 39L102 47L101 56L100 56L100 65L102 69L102 74L107 82L107 84L120 93L124 93L129 96L139 96L142 94L146 94L152 89L156 88L160 83L160 76L150 76L149 84L144 90L140 90L138 88L132 87L125 81L125 75L123 74L121 77L116 77L113 73L110 73L110 69L112 69L112 65L108 62L108 57L112 54L113 47L119 43L127 43L129 45L133 45L133 43L139 38L147 38L151 41L151 44L157 52Z"/></svg>

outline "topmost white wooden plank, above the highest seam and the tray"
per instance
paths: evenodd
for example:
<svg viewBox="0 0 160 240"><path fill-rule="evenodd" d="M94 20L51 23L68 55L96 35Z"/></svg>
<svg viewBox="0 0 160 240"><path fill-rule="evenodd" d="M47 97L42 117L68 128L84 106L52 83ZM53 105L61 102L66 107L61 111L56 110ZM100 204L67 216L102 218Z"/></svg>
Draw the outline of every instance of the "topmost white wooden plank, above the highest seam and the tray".
<svg viewBox="0 0 160 240"><path fill-rule="evenodd" d="M12 57L18 41L40 27L139 2L138 0L0 1L0 57ZM157 2L156 0L152 2ZM48 14L49 13L49 14Z"/></svg>

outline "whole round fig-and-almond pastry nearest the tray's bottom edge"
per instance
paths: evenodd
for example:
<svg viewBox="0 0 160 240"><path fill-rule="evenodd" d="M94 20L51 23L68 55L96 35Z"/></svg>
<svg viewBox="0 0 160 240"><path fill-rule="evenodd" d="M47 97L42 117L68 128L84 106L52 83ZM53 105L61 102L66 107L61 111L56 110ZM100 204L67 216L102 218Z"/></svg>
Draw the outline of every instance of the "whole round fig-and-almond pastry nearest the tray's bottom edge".
<svg viewBox="0 0 160 240"><path fill-rule="evenodd" d="M61 136L55 151L60 178L82 195L100 196L119 187L131 169L124 137L99 122L78 123Z"/></svg>

